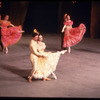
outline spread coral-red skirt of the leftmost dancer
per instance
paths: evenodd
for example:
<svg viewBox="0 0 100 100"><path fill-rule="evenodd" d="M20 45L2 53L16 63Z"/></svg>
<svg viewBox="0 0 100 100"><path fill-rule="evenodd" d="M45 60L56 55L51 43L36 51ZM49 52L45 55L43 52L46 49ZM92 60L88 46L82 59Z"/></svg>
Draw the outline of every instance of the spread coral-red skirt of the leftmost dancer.
<svg viewBox="0 0 100 100"><path fill-rule="evenodd" d="M22 36L22 33L19 32L21 30L22 30L21 26L15 26L9 28L3 27L1 29L1 40L3 43L3 47L5 48L17 43Z"/></svg>

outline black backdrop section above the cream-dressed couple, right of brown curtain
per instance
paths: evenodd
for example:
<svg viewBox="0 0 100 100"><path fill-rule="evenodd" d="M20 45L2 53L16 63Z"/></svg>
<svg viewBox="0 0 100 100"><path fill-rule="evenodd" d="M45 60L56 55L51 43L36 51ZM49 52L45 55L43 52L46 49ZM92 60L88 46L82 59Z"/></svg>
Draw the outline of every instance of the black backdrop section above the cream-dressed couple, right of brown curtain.
<svg viewBox="0 0 100 100"><path fill-rule="evenodd" d="M58 27L58 2L56 1L31 1L29 4L24 29L39 32L57 32Z"/></svg>

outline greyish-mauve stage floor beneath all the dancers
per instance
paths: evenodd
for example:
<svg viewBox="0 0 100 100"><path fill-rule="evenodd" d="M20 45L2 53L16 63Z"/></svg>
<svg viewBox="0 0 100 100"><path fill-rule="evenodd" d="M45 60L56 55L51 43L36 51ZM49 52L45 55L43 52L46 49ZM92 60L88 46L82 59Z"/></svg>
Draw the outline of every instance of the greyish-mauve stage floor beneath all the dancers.
<svg viewBox="0 0 100 100"><path fill-rule="evenodd" d="M43 34L46 51L61 48L60 34ZM32 65L29 60L31 35L0 51L0 97L100 98L100 39L83 38L59 59L57 80L27 81ZM1 50L1 48L0 48Z"/></svg>

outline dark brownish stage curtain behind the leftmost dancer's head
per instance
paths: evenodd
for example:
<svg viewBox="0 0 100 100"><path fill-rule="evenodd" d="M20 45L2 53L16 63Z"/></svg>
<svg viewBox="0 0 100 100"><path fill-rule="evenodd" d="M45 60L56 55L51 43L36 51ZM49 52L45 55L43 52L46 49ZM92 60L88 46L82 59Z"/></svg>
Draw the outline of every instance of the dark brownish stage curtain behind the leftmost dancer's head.
<svg viewBox="0 0 100 100"><path fill-rule="evenodd" d="M28 1L2 1L2 18L8 14L12 24L23 26L28 5Z"/></svg>

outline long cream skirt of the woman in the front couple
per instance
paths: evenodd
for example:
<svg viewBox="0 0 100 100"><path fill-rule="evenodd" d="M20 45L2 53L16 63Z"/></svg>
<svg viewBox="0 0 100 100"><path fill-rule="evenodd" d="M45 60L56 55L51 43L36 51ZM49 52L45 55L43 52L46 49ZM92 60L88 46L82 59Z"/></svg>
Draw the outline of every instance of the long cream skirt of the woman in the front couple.
<svg viewBox="0 0 100 100"><path fill-rule="evenodd" d="M56 53L43 52L43 54L46 55L47 58L38 57L36 64L37 68L32 75L35 79L48 77L53 71L55 71L61 53L58 51Z"/></svg>

